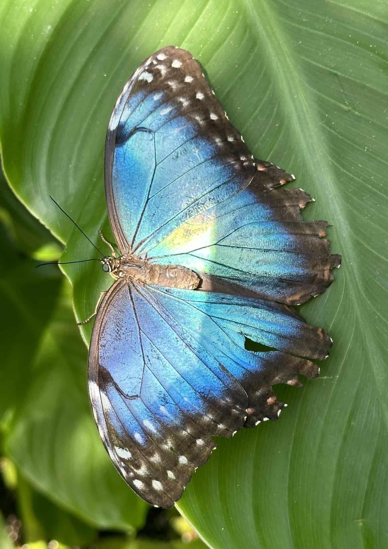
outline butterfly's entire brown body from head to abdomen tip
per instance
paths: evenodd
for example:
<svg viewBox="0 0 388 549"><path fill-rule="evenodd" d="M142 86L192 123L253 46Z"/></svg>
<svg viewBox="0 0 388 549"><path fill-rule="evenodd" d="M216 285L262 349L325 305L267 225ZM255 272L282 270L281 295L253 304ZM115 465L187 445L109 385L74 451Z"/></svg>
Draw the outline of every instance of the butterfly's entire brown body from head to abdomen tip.
<svg viewBox="0 0 388 549"><path fill-rule="evenodd" d="M128 278L141 284L195 290L200 281L195 272L182 265L160 265L134 255L106 256L101 259L101 264L102 270L113 278Z"/></svg>

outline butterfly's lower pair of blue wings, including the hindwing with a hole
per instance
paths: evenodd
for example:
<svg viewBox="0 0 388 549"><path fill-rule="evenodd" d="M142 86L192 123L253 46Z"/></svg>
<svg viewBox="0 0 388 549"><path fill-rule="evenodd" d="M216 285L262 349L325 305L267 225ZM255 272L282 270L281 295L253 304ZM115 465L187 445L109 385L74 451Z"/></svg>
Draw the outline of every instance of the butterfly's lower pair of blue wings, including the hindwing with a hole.
<svg viewBox="0 0 388 549"><path fill-rule="evenodd" d="M244 336L279 349L250 352ZM109 455L152 505L170 507L215 449L212 435L277 419L271 385L299 384L330 338L271 301L138 286L119 279L101 304L89 394ZM312 350L313 349L313 350Z"/></svg>

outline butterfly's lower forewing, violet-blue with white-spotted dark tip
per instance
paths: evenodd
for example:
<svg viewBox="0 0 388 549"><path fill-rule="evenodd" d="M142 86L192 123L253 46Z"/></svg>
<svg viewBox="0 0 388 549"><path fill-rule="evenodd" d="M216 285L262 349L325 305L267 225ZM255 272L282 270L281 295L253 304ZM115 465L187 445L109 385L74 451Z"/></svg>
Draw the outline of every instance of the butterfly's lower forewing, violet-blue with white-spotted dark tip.
<svg viewBox="0 0 388 549"><path fill-rule="evenodd" d="M232 436L246 418L235 377L147 288L125 281L100 306L88 380L113 463L153 505L173 505L215 448L211 435Z"/></svg>

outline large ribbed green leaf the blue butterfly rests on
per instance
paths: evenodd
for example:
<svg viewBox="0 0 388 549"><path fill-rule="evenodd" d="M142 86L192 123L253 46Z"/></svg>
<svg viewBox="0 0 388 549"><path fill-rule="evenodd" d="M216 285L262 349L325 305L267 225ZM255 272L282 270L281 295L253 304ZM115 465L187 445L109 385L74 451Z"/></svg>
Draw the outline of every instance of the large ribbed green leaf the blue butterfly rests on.
<svg viewBox="0 0 388 549"><path fill-rule="evenodd" d="M139 63L170 43L201 61L254 154L295 173L316 198L305 217L328 220L332 250L343 255L332 287L301 307L334 339L322 377L302 390L276 388L289 404L279 422L219 441L179 508L222 549L383 547L385 4L8 0L1 9L4 169L21 200L67 243L63 260L96 252L48 195L95 242L100 228L112 238L102 169L111 109ZM65 272L83 320L110 281L93 262ZM86 341L91 329L83 329ZM55 383L48 393L58 394ZM85 463L84 455L78 467ZM111 496L106 506L121 513L123 501Z"/></svg>

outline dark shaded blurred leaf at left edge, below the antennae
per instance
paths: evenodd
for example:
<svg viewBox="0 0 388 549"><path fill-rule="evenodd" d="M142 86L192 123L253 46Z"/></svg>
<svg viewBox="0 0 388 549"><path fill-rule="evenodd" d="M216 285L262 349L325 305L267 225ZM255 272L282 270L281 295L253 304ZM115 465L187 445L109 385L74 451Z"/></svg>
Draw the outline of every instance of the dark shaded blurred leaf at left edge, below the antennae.
<svg viewBox="0 0 388 549"><path fill-rule="evenodd" d="M10 211L3 209L14 222ZM28 212L27 212L28 213ZM29 214L28 214L29 215ZM42 330L53 314L62 281L51 265L36 270L37 262L16 248L9 231L0 223L0 254L6 258L0 272L2 318L2 378L0 418L23 401L31 384L31 357L37 352Z"/></svg>

